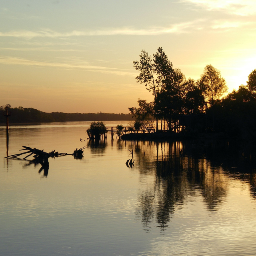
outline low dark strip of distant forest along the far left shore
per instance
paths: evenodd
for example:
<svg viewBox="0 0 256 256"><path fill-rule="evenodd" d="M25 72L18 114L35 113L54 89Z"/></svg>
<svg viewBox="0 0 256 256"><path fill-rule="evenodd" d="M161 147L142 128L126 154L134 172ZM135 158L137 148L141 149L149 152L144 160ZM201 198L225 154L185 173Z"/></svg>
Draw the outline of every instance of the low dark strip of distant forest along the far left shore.
<svg viewBox="0 0 256 256"><path fill-rule="evenodd" d="M10 112L9 123L43 123L43 122L67 122L67 121L118 121L132 120L132 114L110 114L110 113L62 113L52 112L46 113L35 108L12 108L8 106ZM6 123L4 116L5 106L0 107L0 124Z"/></svg>

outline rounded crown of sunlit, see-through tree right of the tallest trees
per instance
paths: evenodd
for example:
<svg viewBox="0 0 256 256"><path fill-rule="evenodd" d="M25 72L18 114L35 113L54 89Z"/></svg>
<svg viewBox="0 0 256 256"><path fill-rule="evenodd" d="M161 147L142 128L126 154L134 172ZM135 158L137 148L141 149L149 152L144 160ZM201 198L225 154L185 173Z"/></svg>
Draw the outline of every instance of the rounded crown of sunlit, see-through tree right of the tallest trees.
<svg viewBox="0 0 256 256"><path fill-rule="evenodd" d="M228 90L225 79L220 75L220 70L214 68L211 64L204 68L204 73L198 85L211 105Z"/></svg>

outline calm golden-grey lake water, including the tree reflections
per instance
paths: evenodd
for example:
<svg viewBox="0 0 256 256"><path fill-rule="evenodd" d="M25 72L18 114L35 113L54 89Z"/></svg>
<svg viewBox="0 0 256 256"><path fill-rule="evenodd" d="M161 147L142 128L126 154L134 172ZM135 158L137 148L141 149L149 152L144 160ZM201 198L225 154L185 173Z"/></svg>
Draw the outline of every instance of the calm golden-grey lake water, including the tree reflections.
<svg viewBox="0 0 256 256"><path fill-rule="evenodd" d="M93 145L89 125L10 127L9 155L22 146L87 146L80 160L49 158L48 173L4 158L0 127L0 255L256 255L256 167L247 148L110 135Z"/></svg>

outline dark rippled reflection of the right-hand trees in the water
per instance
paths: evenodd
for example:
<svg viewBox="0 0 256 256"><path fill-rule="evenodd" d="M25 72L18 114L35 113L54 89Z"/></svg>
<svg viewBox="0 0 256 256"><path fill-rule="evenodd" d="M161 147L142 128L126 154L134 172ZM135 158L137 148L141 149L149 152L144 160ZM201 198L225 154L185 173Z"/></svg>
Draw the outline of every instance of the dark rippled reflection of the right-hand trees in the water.
<svg viewBox="0 0 256 256"><path fill-rule="evenodd" d="M143 177L136 218L145 230L153 222L164 230L174 211L196 193L216 213L227 196L230 178L249 182L256 197L256 154L248 146L226 141L133 143L136 166ZM151 182L145 182L150 178Z"/></svg>

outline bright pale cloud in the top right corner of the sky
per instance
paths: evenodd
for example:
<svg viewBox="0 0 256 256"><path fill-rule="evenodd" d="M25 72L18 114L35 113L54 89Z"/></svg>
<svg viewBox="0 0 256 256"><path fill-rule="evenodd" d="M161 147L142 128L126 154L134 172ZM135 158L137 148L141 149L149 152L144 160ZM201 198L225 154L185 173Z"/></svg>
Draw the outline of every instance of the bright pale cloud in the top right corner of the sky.
<svg viewBox="0 0 256 256"><path fill-rule="evenodd" d="M180 0L203 6L207 10L224 10L230 14L248 16L256 14L255 0Z"/></svg>

